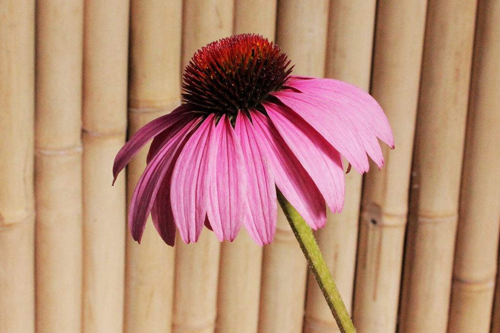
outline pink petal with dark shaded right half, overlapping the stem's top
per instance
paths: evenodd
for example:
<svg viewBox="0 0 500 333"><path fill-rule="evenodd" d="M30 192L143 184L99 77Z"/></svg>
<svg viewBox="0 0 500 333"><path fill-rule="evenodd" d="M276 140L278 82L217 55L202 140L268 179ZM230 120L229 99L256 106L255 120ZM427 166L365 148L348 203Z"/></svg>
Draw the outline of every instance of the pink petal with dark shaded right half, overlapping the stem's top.
<svg viewBox="0 0 500 333"><path fill-rule="evenodd" d="M324 225L324 198L269 118L250 110L255 139L283 196L310 226Z"/></svg>

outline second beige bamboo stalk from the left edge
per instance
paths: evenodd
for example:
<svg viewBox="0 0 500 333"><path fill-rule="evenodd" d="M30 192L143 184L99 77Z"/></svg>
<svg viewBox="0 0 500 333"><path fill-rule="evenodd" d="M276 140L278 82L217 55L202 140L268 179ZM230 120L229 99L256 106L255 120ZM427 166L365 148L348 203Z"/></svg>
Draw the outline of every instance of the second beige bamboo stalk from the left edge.
<svg viewBox="0 0 500 333"><path fill-rule="evenodd" d="M83 1L36 5L36 332L79 333Z"/></svg>

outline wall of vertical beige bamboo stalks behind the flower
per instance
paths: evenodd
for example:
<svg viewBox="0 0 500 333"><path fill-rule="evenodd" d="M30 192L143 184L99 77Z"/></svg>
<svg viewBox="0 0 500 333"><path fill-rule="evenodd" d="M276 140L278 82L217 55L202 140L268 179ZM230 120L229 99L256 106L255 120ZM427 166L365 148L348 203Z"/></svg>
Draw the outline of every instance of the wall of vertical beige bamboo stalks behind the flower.
<svg viewBox="0 0 500 333"><path fill-rule="evenodd" d="M145 150L206 43L369 91L385 166L315 235L359 333L500 333L500 0L1 0L0 333L338 332L284 216L270 245L126 230ZM146 148L144 148L146 149Z"/></svg>

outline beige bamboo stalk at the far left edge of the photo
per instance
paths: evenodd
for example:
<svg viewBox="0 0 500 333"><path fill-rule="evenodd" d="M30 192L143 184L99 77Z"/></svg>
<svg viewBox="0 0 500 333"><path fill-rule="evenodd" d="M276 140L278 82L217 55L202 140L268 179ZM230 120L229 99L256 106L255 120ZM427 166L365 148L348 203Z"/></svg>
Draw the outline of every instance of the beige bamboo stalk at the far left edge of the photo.
<svg viewBox="0 0 500 333"><path fill-rule="evenodd" d="M0 331L34 332L34 1L0 1Z"/></svg>

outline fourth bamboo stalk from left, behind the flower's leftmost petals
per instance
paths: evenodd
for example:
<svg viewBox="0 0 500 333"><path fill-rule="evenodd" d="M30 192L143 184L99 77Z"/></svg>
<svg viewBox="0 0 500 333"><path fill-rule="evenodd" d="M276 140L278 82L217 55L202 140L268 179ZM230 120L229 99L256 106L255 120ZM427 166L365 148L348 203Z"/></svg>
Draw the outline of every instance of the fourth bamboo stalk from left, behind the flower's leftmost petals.
<svg viewBox="0 0 500 333"><path fill-rule="evenodd" d="M128 133L179 105L182 3L132 0ZM147 147L128 164L128 205L145 168ZM147 221L141 244L126 232L124 331L171 332L175 252Z"/></svg>

